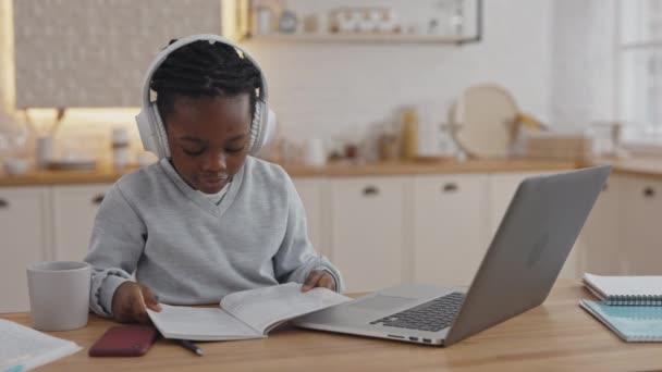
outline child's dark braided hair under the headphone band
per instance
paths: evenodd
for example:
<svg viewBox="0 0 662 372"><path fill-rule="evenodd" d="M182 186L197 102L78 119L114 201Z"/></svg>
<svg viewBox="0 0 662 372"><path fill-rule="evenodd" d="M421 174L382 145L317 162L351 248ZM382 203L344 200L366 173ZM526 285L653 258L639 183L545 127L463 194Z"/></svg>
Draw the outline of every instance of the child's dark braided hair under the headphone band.
<svg viewBox="0 0 662 372"><path fill-rule="evenodd" d="M236 97L248 94L250 117L254 117L261 79L255 64L234 47L198 40L170 53L155 71L149 87L157 94L157 108L164 123L174 112L177 97Z"/></svg>

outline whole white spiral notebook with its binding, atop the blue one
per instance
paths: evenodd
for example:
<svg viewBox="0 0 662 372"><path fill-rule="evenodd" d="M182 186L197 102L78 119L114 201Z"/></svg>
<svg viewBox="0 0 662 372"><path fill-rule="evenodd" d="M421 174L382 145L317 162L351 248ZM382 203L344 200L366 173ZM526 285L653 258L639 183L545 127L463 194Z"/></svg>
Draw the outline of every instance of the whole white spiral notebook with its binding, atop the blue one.
<svg viewBox="0 0 662 372"><path fill-rule="evenodd" d="M584 285L606 305L662 306L662 276L604 276L586 273Z"/></svg>

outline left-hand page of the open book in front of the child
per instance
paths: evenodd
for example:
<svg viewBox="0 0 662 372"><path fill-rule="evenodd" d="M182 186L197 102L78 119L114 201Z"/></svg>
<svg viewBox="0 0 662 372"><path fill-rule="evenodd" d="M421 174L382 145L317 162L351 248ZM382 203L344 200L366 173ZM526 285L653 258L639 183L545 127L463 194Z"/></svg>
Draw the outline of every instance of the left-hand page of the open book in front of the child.
<svg viewBox="0 0 662 372"><path fill-rule="evenodd" d="M147 309L154 325L166 338L225 340L262 337L219 308L192 308L161 303L160 312Z"/></svg>

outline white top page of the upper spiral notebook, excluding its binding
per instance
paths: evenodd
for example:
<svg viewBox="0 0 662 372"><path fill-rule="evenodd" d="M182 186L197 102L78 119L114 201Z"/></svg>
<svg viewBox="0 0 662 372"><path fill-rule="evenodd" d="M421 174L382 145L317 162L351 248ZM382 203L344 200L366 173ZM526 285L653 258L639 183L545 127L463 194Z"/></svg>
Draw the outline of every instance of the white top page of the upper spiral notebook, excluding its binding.
<svg viewBox="0 0 662 372"><path fill-rule="evenodd" d="M662 296L662 276L584 274L584 281L606 296Z"/></svg>

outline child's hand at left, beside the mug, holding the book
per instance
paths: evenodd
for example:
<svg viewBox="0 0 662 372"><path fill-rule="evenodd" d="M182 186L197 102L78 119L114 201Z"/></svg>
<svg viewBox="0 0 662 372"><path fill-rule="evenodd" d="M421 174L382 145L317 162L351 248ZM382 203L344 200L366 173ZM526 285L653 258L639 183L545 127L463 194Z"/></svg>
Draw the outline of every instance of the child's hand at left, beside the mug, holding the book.
<svg viewBox="0 0 662 372"><path fill-rule="evenodd" d="M150 323L147 308L161 311L161 306L148 287L124 282L112 296L112 314L122 323Z"/></svg>

